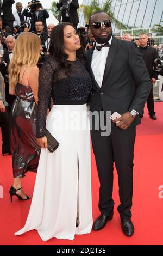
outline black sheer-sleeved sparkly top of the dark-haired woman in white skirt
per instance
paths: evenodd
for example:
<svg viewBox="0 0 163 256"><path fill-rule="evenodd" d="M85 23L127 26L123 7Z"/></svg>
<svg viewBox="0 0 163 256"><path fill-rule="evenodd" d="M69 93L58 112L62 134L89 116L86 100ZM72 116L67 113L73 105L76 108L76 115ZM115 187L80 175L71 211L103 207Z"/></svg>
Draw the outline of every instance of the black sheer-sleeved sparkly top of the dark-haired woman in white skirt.
<svg viewBox="0 0 163 256"><path fill-rule="evenodd" d="M44 136L46 113L50 98L54 105L82 105L87 103L92 88L92 81L85 66L80 60L70 62L71 72L66 76L61 70L57 82L54 81L58 62L54 57L49 58L42 65L39 74L39 104L37 108L36 137Z"/></svg>

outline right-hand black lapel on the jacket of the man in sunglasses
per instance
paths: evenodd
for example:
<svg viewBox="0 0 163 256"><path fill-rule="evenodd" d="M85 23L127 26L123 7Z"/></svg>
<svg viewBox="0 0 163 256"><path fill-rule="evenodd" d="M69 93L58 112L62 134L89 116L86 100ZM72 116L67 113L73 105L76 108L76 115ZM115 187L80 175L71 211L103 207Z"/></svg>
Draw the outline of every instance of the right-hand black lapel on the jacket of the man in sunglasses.
<svg viewBox="0 0 163 256"><path fill-rule="evenodd" d="M108 57L106 58L106 65L105 65L105 70L104 70L104 76L103 76L103 82L102 82L102 88L104 87L105 80L108 76L108 72L112 63L112 60L114 58L114 54L116 53L118 46L118 39L116 39L114 36L112 37Z"/></svg>

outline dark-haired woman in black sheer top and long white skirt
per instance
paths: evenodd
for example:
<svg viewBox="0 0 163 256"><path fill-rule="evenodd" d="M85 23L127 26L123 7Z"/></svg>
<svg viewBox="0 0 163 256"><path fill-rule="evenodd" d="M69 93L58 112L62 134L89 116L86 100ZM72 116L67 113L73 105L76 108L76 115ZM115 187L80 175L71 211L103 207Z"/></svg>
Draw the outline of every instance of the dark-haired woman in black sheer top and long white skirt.
<svg viewBox="0 0 163 256"><path fill-rule="evenodd" d="M21 235L36 229L43 241L74 239L92 228L91 148L87 100L92 82L71 23L51 33L50 57L39 75L37 141L42 147L34 194ZM54 105L46 120L50 98ZM46 124L46 125L45 125ZM47 150L45 126L60 143Z"/></svg>

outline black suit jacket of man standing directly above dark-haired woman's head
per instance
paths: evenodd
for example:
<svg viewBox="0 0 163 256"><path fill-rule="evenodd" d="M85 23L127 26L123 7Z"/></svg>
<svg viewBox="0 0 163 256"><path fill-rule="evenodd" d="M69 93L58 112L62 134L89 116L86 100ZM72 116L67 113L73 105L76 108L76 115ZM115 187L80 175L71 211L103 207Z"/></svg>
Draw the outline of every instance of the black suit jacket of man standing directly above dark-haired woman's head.
<svg viewBox="0 0 163 256"><path fill-rule="evenodd" d="M62 7L62 2L61 3L57 3L57 8ZM70 10L68 11L68 14L70 16L71 22L73 24L78 24L79 23L79 18L78 18L78 13L77 13L77 9L79 8L79 2L78 0L72 0L72 2L70 3ZM65 12L62 12L62 22L65 21Z"/></svg>

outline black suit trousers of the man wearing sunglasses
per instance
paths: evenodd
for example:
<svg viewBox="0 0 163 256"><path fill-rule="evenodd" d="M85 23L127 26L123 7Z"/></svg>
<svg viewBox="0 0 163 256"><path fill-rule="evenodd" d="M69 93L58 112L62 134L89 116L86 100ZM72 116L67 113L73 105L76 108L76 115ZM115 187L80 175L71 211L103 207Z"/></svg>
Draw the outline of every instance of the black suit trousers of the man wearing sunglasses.
<svg viewBox="0 0 163 256"><path fill-rule="evenodd" d="M101 131L91 131L93 152L100 181L98 206L103 215L113 214L112 187L115 162L121 202L118 212L122 218L131 217L135 135L135 126L129 127L127 130L111 127L111 134L107 137L102 137Z"/></svg>

